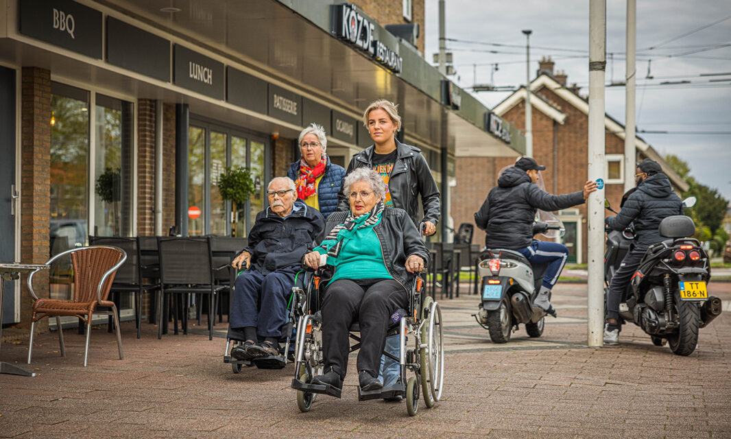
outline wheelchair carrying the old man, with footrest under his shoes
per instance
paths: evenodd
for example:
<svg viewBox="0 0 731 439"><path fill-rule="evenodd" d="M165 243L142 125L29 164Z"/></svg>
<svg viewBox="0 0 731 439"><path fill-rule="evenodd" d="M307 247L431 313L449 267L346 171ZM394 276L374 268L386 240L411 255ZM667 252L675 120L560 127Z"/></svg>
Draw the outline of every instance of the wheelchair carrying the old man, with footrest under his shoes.
<svg viewBox="0 0 731 439"><path fill-rule="evenodd" d="M295 284L296 283L295 279ZM295 327L295 323L297 321L297 318L295 317L295 309L298 309L299 307L296 302L298 296L294 293L294 290L296 289L298 288L292 288L292 295L289 296L289 321L281 327L281 337L279 337L279 346L277 348L279 355L261 356L250 360L238 360L233 358L231 356L231 349L235 348L237 345L243 345L243 342L246 342L246 337L244 337L243 331L239 329L232 329L229 326L226 334L224 364L231 364L231 369L234 373L240 373L243 366L256 366L259 369L284 369L288 362L291 363L294 361L294 355L290 352L289 348L292 345L292 338L295 336L292 331L292 328Z"/></svg>

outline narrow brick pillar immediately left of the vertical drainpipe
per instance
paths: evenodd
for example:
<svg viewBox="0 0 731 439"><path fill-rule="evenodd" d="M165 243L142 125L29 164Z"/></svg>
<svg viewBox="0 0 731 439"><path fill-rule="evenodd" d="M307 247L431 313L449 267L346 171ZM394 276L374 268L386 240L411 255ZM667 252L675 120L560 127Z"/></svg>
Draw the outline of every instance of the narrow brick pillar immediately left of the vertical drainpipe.
<svg viewBox="0 0 731 439"><path fill-rule="evenodd" d="M155 234L155 101L137 101L137 235Z"/></svg>

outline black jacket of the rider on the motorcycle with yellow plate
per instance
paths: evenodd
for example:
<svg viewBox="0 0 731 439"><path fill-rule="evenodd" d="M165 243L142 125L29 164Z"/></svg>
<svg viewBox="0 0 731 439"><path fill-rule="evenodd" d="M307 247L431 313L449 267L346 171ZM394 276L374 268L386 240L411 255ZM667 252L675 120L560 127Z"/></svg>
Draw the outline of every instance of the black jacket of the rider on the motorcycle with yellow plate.
<svg viewBox="0 0 731 439"><path fill-rule="evenodd" d="M683 214L683 201L673 192L670 179L664 173L656 173L642 181L637 190L624 201L616 217L605 218L613 230L624 230L635 222L635 238L640 246L660 242L660 222L665 217Z"/></svg>

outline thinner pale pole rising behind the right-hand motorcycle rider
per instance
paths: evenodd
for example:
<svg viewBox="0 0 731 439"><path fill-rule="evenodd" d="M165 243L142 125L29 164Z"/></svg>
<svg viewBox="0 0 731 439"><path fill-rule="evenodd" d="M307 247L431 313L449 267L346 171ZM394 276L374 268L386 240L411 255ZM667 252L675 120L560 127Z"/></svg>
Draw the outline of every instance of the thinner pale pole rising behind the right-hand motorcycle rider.
<svg viewBox="0 0 731 439"><path fill-rule="evenodd" d="M635 186L635 36L637 34L637 3L627 0L627 63L626 102L624 120L624 192Z"/></svg>

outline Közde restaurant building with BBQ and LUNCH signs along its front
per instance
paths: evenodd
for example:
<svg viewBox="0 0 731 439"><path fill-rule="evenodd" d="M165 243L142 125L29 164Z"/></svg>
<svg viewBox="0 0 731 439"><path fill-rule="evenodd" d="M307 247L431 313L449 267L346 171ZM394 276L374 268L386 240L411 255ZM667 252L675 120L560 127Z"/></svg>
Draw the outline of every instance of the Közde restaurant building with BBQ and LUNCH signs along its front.
<svg viewBox="0 0 731 439"><path fill-rule="evenodd" d="M0 0L0 11L0 261L44 263L89 235L230 234L216 187L227 166L254 176L235 227L245 235L268 181L298 158L300 130L322 124L344 165L371 144L360 117L378 98L400 106L398 135L422 149L446 216L456 151L477 139L521 152L520 136L485 130L488 109L423 59L424 0ZM63 296L70 276L52 269L36 290ZM7 282L4 323L28 321L23 285ZM123 318L132 307L125 298Z"/></svg>

